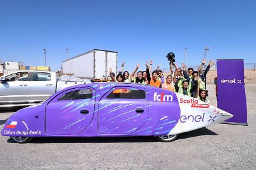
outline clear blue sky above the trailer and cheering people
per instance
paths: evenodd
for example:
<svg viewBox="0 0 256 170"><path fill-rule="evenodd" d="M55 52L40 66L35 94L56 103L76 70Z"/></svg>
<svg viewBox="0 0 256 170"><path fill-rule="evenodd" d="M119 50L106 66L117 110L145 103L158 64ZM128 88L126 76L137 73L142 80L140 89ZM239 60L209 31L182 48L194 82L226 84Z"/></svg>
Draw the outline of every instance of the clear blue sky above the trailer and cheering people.
<svg viewBox="0 0 256 170"><path fill-rule="evenodd" d="M255 62L256 1L0 1L0 60L60 70L61 62L92 49L114 50L125 69L153 59L168 68L207 59Z"/></svg>

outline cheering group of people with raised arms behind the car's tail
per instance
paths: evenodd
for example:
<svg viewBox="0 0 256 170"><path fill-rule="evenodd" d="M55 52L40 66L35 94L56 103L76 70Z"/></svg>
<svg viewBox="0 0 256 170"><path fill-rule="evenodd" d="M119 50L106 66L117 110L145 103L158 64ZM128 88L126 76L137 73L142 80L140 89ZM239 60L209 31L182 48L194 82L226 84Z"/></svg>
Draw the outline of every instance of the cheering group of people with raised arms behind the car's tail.
<svg viewBox="0 0 256 170"><path fill-rule="evenodd" d="M170 75L167 76L164 76L162 70L159 70L159 66L156 67L156 70L154 70L150 76L152 64L152 60L149 62L149 65L148 62L146 62L146 70L139 72L137 72L137 70L140 68L140 64L137 64L134 71L131 73L131 75L129 75L129 72L123 72L124 63L122 63L120 72L118 75L116 75L116 77L115 73L112 72L112 68L109 68L109 75L113 82L136 82L142 84L150 84L151 86L157 88L175 91L180 94L188 95L189 97L197 98L203 102L210 103L209 99L207 98L204 81L207 72L212 66L212 61L209 62L207 68L202 74L200 74L200 72L205 65L205 59L202 60L202 65L199 66L197 71L195 71L193 68L188 68L187 71L184 63L181 64L182 68L178 68L178 66L171 61ZM174 72L173 66L175 67ZM137 75L135 76L136 72Z"/></svg>

